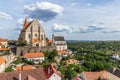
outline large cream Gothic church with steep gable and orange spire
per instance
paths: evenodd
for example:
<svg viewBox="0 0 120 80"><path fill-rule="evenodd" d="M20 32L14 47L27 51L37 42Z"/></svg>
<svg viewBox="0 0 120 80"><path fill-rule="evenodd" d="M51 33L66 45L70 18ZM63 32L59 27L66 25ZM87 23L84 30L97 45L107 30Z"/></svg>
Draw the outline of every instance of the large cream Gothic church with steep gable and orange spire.
<svg viewBox="0 0 120 80"><path fill-rule="evenodd" d="M19 35L19 41L26 41L28 46L42 47L46 46L46 34L39 20L35 19L28 22L25 18L23 28Z"/></svg>

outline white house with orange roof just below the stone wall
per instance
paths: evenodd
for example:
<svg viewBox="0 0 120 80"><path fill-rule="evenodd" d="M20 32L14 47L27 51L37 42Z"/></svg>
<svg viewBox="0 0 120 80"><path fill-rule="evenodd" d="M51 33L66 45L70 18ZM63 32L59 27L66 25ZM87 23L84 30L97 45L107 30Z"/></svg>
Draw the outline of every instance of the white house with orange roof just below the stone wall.
<svg viewBox="0 0 120 80"><path fill-rule="evenodd" d="M35 64L42 63L45 60L44 53L42 52L25 53L23 57L28 61L34 61Z"/></svg>

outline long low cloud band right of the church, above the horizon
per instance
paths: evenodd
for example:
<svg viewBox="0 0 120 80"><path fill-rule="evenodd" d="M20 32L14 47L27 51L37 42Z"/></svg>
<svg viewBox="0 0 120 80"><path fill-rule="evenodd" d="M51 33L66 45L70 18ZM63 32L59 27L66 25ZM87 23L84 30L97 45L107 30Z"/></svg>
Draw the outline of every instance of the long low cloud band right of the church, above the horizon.
<svg viewBox="0 0 120 80"><path fill-rule="evenodd" d="M54 32L69 32L69 33L90 33L90 32L97 32L97 31L103 31L106 27L103 23L97 23L97 24L90 24L86 27L72 27L68 25L62 25L55 23L53 25L53 31Z"/></svg>

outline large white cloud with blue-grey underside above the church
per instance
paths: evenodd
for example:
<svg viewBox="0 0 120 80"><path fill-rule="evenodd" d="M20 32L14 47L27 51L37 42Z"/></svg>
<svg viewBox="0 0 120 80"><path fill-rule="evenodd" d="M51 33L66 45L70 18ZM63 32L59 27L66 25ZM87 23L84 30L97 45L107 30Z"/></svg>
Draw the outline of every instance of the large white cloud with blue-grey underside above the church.
<svg viewBox="0 0 120 80"><path fill-rule="evenodd" d="M24 12L31 18L38 18L46 22L62 14L63 7L50 2L36 2L35 4L25 5Z"/></svg>

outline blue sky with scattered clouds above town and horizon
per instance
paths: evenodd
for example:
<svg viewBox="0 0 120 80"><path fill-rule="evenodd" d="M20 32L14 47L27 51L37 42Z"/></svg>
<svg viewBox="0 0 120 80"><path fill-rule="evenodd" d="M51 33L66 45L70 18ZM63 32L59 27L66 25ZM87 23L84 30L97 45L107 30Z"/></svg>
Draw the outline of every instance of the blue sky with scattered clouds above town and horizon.
<svg viewBox="0 0 120 80"><path fill-rule="evenodd" d="M17 40L25 17L49 39L120 40L120 0L0 0L0 37Z"/></svg>

